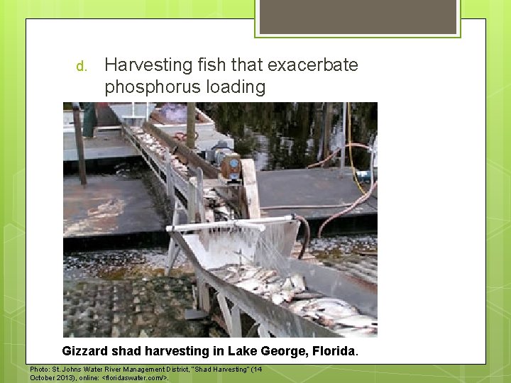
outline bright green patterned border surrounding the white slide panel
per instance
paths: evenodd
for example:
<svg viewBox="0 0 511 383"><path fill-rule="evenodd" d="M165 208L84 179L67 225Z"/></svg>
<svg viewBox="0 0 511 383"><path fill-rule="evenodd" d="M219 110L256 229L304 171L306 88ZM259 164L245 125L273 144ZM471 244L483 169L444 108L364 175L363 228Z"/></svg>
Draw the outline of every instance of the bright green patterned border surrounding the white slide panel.
<svg viewBox="0 0 511 383"><path fill-rule="evenodd" d="M464 0L462 18L487 19L487 364L263 366L247 382L509 382L511 379L511 4ZM0 76L1 382L29 382L25 365L25 18L253 18L253 0L4 1ZM62 41L65 43L65 41ZM467 65L470 65L468 63ZM470 81L470 79L467 79ZM475 106L476 107L476 106ZM483 107L483 106L479 106ZM469 184L468 186L469 187ZM470 255L467 255L470 262ZM463 270L461 270L463 272ZM470 308L467 308L470 311ZM439 340L439 347L442 347ZM467 334L466 347L471 347ZM170 381L238 382L238 374L169 373Z"/></svg>

